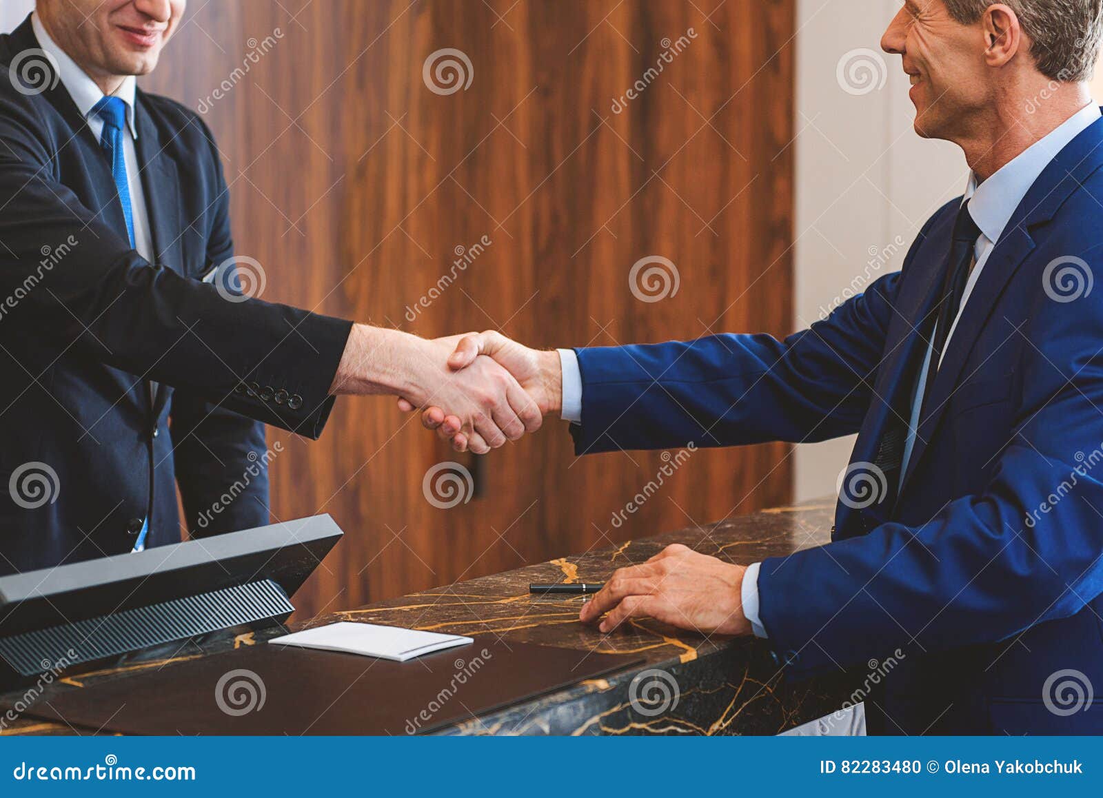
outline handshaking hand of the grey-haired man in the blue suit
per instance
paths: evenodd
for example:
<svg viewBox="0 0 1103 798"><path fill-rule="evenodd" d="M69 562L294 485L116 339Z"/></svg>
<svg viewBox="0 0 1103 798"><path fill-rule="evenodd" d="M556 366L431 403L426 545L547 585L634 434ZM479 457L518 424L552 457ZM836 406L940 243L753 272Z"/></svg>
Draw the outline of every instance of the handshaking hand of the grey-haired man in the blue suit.
<svg viewBox="0 0 1103 798"><path fill-rule="evenodd" d="M548 413L559 412L563 403L563 370L559 354L542 352L518 344L493 330L484 333L472 333L438 341L457 341L456 349L448 358L448 365L454 370L470 369L484 357L491 357L513 375L525 392L535 401L540 418ZM398 407L405 411L415 409L413 402L398 400ZM421 423L426 429L437 430L442 440L450 440L458 452L470 446L475 450L478 441L463 429L461 420L451 413L446 413L436 403L421 413Z"/></svg>

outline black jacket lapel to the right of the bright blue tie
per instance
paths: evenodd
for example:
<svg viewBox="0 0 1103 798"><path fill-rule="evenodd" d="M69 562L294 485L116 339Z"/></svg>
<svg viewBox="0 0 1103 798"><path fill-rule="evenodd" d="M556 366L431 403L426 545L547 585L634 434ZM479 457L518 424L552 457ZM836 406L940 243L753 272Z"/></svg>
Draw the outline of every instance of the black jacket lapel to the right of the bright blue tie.
<svg viewBox="0 0 1103 798"><path fill-rule="evenodd" d="M135 100L135 123L138 140L138 169L141 172L142 192L153 239L154 268L168 267L183 273L182 225L180 219L180 180L176 164L165 154L165 142L150 116L141 91ZM168 400L164 386L158 385L152 399L153 419L161 416Z"/></svg>

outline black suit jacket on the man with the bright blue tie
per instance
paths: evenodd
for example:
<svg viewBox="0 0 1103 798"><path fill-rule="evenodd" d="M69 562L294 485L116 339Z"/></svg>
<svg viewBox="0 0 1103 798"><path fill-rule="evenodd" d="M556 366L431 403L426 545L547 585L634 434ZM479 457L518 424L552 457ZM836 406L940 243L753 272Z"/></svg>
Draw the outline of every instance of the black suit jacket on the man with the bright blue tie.
<svg viewBox="0 0 1103 798"><path fill-rule="evenodd" d="M257 421L317 438L350 330L202 281L234 257L218 154L195 114L139 91L144 261L38 48L30 19L0 36L0 574L129 551L147 516L147 546L179 541L174 479L193 533L266 524Z"/></svg>

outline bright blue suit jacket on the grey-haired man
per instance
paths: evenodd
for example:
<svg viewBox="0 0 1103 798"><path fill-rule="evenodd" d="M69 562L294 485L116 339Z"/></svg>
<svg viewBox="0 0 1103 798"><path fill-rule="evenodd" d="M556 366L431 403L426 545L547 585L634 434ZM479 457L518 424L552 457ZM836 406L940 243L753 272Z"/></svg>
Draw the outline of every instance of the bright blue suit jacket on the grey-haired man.
<svg viewBox="0 0 1103 798"><path fill-rule="evenodd" d="M762 622L791 676L895 657L867 700L876 731L1103 732L1100 703L1051 711L1070 679L1103 689L1101 166L1103 121L1016 211L899 496L840 500L834 542L762 564ZM931 217L900 272L785 341L579 349L578 451L857 432L854 475L869 471L908 418L959 204Z"/></svg>

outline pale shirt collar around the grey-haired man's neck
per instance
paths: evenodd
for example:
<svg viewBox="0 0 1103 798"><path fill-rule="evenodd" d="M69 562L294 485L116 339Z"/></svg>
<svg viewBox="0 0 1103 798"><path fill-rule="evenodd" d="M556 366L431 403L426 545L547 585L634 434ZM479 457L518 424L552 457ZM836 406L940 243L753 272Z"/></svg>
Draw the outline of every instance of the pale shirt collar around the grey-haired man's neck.
<svg viewBox="0 0 1103 798"><path fill-rule="evenodd" d="M977 182L975 173L970 173L964 202L968 202L970 216L985 238L993 244L999 240L1007 223L1049 162L1100 117L1099 106L1090 103L983 183Z"/></svg>

